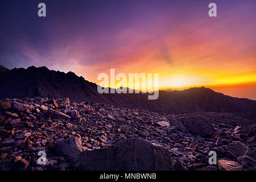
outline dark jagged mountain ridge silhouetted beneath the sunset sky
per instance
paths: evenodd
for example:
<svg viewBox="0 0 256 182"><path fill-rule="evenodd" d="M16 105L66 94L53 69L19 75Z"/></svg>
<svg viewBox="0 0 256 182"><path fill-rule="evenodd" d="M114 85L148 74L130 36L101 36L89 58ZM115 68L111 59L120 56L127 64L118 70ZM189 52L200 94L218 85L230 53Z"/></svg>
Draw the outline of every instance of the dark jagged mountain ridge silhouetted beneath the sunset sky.
<svg viewBox="0 0 256 182"><path fill-rule="evenodd" d="M191 88L172 92L159 91L158 100L147 94L99 94L97 85L73 72L50 71L46 67L0 70L0 98L43 96L69 97L73 101L95 101L118 107L141 108L166 113L195 111L256 113L256 101L234 98L208 88Z"/></svg>

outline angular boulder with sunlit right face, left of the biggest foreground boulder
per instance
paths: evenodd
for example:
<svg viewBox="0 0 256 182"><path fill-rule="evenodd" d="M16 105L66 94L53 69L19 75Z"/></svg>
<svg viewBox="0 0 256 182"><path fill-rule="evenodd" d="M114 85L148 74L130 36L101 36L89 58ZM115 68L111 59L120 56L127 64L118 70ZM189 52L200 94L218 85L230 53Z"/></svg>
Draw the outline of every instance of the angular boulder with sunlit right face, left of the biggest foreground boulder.
<svg viewBox="0 0 256 182"><path fill-rule="evenodd" d="M82 151L82 141L79 137L71 137L60 140L55 143L52 148L58 155L75 156Z"/></svg>

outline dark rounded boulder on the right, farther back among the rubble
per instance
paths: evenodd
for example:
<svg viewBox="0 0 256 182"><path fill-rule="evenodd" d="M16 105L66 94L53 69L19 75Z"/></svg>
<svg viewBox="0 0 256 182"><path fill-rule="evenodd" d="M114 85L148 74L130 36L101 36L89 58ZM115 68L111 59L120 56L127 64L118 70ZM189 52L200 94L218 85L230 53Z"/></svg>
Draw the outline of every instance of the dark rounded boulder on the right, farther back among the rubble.
<svg viewBox="0 0 256 182"><path fill-rule="evenodd" d="M200 135L201 137L212 137L214 134L214 127L202 115L187 117L184 119L183 125L190 133Z"/></svg>

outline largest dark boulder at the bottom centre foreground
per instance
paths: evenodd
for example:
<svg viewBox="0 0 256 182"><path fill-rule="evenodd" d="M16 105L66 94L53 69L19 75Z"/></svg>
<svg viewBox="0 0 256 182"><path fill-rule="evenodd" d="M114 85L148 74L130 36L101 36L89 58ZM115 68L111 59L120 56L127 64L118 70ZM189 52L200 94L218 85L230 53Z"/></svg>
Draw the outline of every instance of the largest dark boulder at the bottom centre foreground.
<svg viewBox="0 0 256 182"><path fill-rule="evenodd" d="M172 170L171 152L143 139L121 139L108 148L81 152L72 169Z"/></svg>

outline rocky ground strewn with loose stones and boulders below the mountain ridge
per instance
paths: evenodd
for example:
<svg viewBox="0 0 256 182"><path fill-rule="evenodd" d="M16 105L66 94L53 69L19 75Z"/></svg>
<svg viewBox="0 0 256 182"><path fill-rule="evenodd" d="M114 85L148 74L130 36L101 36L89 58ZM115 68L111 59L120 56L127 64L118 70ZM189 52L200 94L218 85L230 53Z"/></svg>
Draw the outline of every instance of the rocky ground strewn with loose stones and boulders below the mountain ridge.
<svg viewBox="0 0 256 182"><path fill-rule="evenodd" d="M0 100L0 122L1 170L255 170L255 114L31 97ZM217 152L216 165L209 151Z"/></svg>

